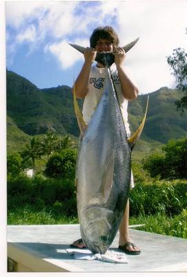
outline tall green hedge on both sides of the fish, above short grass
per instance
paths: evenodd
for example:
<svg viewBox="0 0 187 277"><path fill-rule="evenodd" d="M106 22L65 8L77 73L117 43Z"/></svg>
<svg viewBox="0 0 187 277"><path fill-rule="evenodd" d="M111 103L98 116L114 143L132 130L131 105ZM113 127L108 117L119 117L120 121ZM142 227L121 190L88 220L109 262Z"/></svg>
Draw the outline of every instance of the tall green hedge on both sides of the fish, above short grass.
<svg viewBox="0 0 187 277"><path fill-rule="evenodd" d="M179 215L187 209L187 183L176 181L137 182L130 190L130 217L139 215ZM54 217L77 216L75 181L68 178L8 178L8 211L30 205L35 211L46 207Z"/></svg>

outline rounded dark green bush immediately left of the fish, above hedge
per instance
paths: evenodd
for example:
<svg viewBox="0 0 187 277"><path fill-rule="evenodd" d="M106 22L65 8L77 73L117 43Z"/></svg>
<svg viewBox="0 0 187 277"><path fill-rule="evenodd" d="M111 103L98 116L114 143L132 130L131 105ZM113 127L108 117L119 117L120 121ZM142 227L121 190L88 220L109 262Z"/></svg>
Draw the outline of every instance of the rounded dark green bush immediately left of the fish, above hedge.
<svg viewBox="0 0 187 277"><path fill-rule="evenodd" d="M77 150L65 149L60 154L53 154L46 163L44 171L48 177L72 177L75 176Z"/></svg>

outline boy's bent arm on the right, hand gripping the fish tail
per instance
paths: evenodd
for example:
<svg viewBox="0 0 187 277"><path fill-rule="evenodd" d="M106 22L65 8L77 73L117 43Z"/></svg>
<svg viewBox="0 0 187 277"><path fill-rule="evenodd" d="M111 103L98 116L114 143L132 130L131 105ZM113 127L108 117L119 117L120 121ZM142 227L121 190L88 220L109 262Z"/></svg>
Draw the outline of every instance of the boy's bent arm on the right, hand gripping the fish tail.
<svg viewBox="0 0 187 277"><path fill-rule="evenodd" d="M121 92L127 100L135 100L139 91L130 78L128 78L126 70L124 69L123 63L126 53L123 48L117 47L114 49L113 54L115 55L115 64L121 83Z"/></svg>

